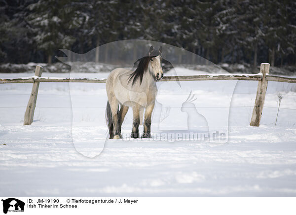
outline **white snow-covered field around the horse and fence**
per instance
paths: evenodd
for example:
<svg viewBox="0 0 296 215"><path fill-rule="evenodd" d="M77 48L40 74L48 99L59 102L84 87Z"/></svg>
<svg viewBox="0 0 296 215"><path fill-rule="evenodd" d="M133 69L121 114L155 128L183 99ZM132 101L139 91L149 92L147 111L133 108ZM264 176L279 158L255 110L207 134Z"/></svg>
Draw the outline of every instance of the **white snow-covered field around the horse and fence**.
<svg viewBox="0 0 296 215"><path fill-rule="evenodd" d="M205 73L176 71L179 75ZM0 73L0 78L32 75ZM42 76L70 74L45 72ZM261 125L251 127L257 84L188 81L180 88L174 82L158 83L152 135L191 129L187 122L193 118L199 131L226 129L226 143L106 141L103 83L40 83L34 122L23 126L32 84L1 84L0 193L14 197L296 196L296 84L269 82ZM193 102L197 112L181 111L190 91L197 98ZM278 95L283 99L275 126ZM131 125L130 109L124 134L130 134ZM101 143L105 147L99 153Z"/></svg>

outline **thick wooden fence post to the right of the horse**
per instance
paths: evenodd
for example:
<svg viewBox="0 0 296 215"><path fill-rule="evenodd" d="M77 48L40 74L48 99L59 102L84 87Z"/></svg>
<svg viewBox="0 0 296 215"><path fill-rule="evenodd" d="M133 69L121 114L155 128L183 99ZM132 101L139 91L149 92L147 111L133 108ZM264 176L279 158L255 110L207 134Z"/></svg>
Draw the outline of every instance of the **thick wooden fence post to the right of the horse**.
<svg viewBox="0 0 296 215"><path fill-rule="evenodd" d="M262 80L258 82L255 106L253 109L252 119L250 123L251 126L259 126L260 124L260 119L261 119L262 110L263 110L264 101L265 101L265 94L267 90L267 83L268 83L268 80L266 80L266 74L269 73L269 66L270 65L268 63L262 63L260 65Z"/></svg>

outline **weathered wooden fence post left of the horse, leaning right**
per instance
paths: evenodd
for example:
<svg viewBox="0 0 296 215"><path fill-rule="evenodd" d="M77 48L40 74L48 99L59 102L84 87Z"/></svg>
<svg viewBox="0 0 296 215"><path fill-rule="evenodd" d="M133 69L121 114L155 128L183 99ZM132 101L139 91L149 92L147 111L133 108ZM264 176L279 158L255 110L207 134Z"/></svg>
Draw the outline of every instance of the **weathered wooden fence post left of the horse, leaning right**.
<svg viewBox="0 0 296 215"><path fill-rule="evenodd" d="M42 74L42 67L36 66L35 76L41 77L41 74ZM30 95L30 99L29 99L27 109L25 112L24 125L31 125L31 123L33 122L34 110L36 107L36 100L37 100L37 94L38 94L38 88L39 88L39 82L34 82L33 87L32 87L32 92Z"/></svg>

